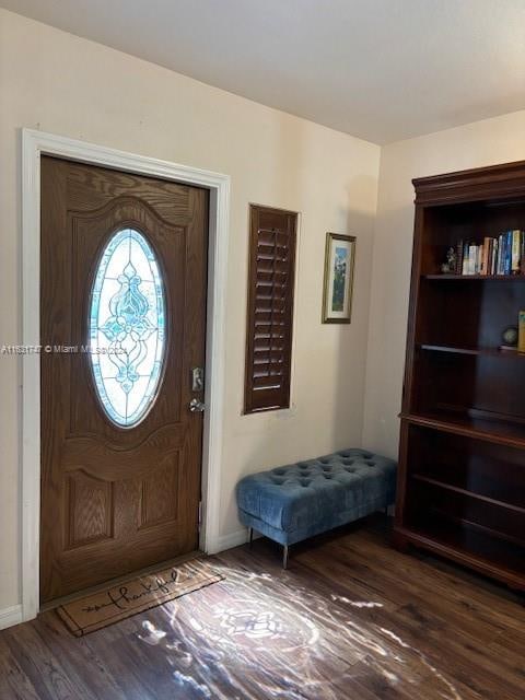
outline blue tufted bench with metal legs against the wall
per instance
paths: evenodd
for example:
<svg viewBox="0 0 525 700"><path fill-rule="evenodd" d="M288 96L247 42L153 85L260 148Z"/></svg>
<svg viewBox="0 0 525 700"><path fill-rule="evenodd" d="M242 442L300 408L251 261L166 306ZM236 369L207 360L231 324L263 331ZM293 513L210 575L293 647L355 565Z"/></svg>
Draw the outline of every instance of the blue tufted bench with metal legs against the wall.
<svg viewBox="0 0 525 700"><path fill-rule="evenodd" d="M237 485L241 522L284 547L351 523L394 502L396 463L365 450L259 471Z"/></svg>

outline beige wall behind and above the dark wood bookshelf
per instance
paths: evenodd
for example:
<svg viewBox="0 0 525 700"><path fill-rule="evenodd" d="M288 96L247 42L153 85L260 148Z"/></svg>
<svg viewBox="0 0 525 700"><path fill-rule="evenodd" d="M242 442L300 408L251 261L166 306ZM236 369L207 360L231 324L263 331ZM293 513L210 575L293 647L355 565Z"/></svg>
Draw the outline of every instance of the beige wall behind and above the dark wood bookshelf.
<svg viewBox="0 0 525 700"><path fill-rule="evenodd" d="M525 112L382 149L363 444L397 455L413 226L412 177L525 160Z"/></svg>

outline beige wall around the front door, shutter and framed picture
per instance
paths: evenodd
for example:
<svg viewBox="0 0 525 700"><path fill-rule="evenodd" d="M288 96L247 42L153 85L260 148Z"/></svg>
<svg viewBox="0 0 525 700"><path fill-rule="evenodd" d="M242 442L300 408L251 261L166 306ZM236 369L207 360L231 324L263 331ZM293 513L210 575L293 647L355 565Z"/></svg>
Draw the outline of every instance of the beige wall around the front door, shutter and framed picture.
<svg viewBox="0 0 525 700"><path fill-rule="evenodd" d="M363 427L380 149L0 11L0 345L20 341L21 143L30 127L232 177L221 535L248 471L348 445ZM292 410L242 417L247 206L300 211ZM322 326L325 232L358 236L353 318ZM20 600L20 362L0 355L0 609Z"/></svg>

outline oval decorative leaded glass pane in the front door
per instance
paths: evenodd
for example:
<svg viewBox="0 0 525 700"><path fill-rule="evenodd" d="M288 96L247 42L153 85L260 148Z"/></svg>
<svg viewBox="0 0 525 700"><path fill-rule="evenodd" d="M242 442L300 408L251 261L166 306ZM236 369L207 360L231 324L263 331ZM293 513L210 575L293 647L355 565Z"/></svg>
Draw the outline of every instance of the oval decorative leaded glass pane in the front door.
<svg viewBox="0 0 525 700"><path fill-rule="evenodd" d="M90 346L105 412L118 425L136 425L162 374L165 301L156 256L135 229L117 231L102 254L91 295Z"/></svg>

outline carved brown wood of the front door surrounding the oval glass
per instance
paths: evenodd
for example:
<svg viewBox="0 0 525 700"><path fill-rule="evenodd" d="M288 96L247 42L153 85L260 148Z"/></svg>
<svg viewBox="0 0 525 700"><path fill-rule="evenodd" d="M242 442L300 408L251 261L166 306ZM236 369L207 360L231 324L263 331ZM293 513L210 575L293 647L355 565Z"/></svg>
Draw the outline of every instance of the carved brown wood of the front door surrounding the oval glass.
<svg viewBox="0 0 525 700"><path fill-rule="evenodd" d="M43 602L197 547L202 416L188 405L190 369L205 363L208 191L43 156L43 346L89 345L98 260L127 226L164 272L164 371L151 410L124 430L101 407L88 352L43 353Z"/></svg>

